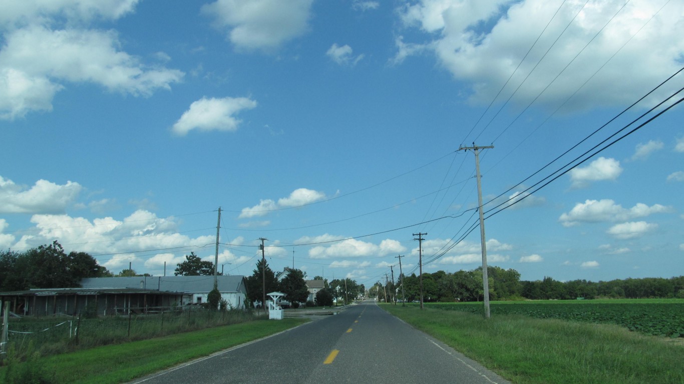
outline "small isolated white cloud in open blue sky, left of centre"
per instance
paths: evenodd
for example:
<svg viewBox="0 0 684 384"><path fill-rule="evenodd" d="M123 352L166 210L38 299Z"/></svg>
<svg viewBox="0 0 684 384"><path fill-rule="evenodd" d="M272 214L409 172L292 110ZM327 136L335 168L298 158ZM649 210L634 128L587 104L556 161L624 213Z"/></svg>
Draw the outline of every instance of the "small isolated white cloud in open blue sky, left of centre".
<svg viewBox="0 0 684 384"><path fill-rule="evenodd" d="M201 98L190 105L181 118L174 124L172 131L177 135L187 135L189 131L237 131L241 120L235 114L245 109L257 107L257 102L249 98Z"/></svg>

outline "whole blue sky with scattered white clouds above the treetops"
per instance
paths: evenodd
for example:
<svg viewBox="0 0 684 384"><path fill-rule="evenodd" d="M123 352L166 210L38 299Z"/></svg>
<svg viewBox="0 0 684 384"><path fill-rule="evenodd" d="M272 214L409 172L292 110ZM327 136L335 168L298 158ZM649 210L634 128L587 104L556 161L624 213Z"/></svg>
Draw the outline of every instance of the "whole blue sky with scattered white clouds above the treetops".
<svg viewBox="0 0 684 384"><path fill-rule="evenodd" d="M681 107L581 156L681 98L684 74L620 115L684 65L683 16L681 0L5 1L0 247L172 274L190 251L213 261L221 207L226 273L250 275L263 237L274 270L370 285L398 255L417 270L419 232L423 271L475 269L475 156L458 150L475 143L494 146L490 265L682 275Z"/></svg>

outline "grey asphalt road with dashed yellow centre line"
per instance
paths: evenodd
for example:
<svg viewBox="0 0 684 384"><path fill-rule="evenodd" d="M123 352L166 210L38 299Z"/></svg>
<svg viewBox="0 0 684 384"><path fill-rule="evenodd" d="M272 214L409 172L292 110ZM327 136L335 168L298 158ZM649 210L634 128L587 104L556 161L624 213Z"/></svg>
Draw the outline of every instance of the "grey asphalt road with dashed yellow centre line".
<svg viewBox="0 0 684 384"><path fill-rule="evenodd" d="M509 382L365 301L133 383Z"/></svg>

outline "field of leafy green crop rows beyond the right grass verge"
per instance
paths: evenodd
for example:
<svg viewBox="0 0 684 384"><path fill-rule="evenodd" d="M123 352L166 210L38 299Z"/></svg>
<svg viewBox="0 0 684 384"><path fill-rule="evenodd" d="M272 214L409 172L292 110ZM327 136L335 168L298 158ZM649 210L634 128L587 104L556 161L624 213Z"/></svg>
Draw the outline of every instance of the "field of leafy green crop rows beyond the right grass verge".
<svg viewBox="0 0 684 384"><path fill-rule="evenodd" d="M428 303L440 310L482 313L482 303ZM646 335L684 338L684 300L544 300L496 301L492 316L521 314L534 318L557 318L585 323L617 324Z"/></svg>

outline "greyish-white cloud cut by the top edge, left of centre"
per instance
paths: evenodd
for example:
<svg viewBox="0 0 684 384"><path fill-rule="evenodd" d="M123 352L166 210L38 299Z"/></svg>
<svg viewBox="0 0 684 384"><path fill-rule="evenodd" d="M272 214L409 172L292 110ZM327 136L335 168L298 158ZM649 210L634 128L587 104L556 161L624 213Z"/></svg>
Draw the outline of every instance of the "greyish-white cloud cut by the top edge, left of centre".
<svg viewBox="0 0 684 384"><path fill-rule="evenodd" d="M218 0L202 5L215 26L228 29L240 49L275 49L304 35L313 0Z"/></svg>

